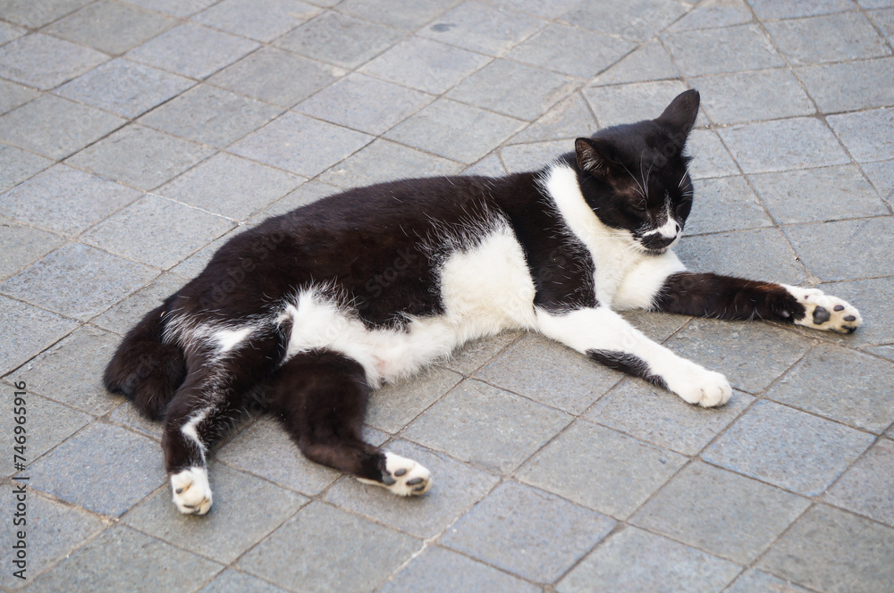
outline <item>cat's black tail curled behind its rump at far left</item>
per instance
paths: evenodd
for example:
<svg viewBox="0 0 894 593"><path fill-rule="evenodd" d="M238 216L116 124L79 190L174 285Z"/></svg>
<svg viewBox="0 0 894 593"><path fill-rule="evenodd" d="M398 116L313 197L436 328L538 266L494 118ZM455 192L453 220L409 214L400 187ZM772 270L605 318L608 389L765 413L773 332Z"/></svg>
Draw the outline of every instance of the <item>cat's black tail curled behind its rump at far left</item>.
<svg viewBox="0 0 894 593"><path fill-rule="evenodd" d="M150 311L132 330L105 367L105 388L133 401L139 411L158 420L186 378L186 360L177 344L164 344L162 335L169 305Z"/></svg>

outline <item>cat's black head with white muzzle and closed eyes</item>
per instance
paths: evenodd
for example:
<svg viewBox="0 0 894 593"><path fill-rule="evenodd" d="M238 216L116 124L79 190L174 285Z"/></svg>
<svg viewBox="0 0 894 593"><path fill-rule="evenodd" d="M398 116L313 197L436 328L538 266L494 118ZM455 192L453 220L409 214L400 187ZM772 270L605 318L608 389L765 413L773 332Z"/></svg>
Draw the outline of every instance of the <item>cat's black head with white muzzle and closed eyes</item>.
<svg viewBox="0 0 894 593"><path fill-rule="evenodd" d="M602 129L575 141L578 179L603 224L626 230L637 250L659 255L679 239L692 205L684 154L698 92L677 96L655 120Z"/></svg>

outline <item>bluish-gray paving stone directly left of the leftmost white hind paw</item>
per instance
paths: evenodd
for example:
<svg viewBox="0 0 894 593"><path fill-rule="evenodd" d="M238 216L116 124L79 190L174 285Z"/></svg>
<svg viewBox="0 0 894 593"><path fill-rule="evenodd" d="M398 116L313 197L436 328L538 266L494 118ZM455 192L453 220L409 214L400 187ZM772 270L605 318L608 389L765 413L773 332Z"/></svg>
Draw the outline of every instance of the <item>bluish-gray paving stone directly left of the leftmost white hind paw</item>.
<svg viewBox="0 0 894 593"><path fill-rule="evenodd" d="M156 441L103 423L81 430L29 472L33 488L115 517L166 481ZM100 477L102 486L97 484Z"/></svg>

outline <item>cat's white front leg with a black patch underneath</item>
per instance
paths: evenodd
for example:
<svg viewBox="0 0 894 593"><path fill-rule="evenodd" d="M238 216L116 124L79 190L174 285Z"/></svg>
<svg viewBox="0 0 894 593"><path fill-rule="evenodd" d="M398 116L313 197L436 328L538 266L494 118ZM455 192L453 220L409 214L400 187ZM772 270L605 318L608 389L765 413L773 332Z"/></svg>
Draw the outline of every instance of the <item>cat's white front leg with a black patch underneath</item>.
<svg viewBox="0 0 894 593"><path fill-rule="evenodd" d="M656 344L608 307L550 313L537 310L539 330L613 369L670 389L690 404L723 405L730 399L730 382L719 372Z"/></svg>

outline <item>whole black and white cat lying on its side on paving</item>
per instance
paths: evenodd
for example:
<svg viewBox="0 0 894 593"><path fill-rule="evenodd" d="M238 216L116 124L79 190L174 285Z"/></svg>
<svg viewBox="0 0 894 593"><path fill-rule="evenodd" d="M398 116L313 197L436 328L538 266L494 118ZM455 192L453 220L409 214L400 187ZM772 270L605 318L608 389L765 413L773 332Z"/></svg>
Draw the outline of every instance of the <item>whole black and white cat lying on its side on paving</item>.
<svg viewBox="0 0 894 593"><path fill-rule="evenodd" d="M820 290L689 272L671 252L692 204L683 148L698 103L689 90L540 171L351 189L232 238L105 372L164 416L177 508L207 513L208 447L257 389L309 459L409 496L429 472L364 442L367 398L472 338L536 330L708 407L730 398L726 378L617 311L855 330L856 309Z"/></svg>

